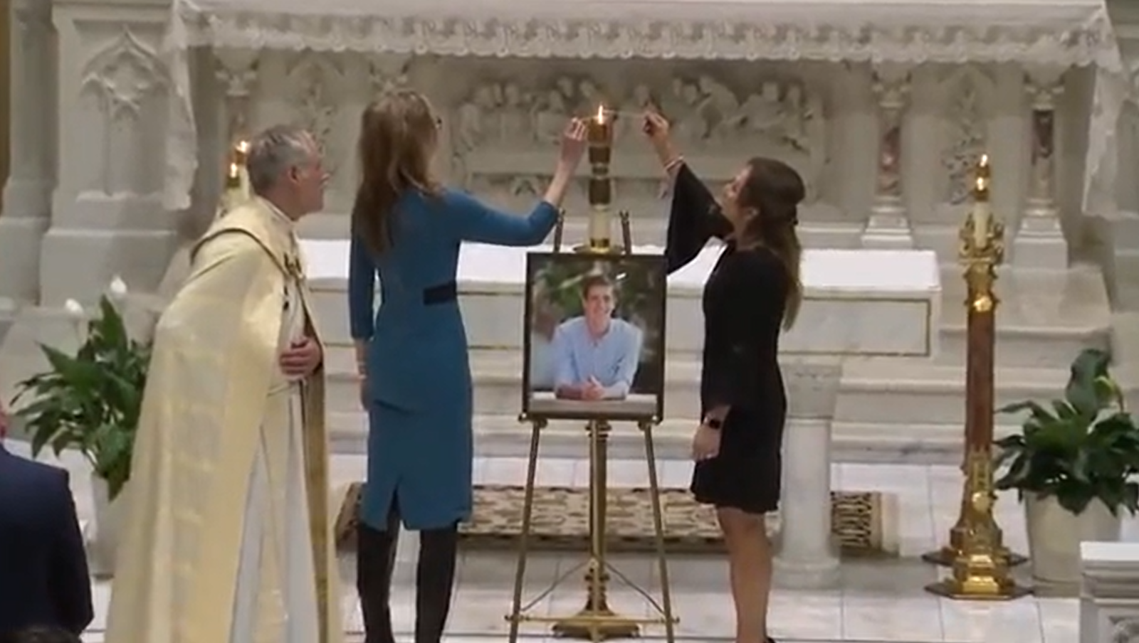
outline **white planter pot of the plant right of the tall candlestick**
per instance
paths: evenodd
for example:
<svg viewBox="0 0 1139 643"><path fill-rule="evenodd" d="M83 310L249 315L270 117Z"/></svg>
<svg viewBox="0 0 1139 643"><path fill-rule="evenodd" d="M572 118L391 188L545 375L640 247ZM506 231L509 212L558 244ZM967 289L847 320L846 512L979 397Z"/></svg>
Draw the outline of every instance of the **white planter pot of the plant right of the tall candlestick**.
<svg viewBox="0 0 1139 643"><path fill-rule="evenodd" d="M1120 518L1112 516L1098 500L1079 516L1060 506L1055 496L1025 494L1024 500L1029 555L1036 585L1077 587L1080 543L1120 539Z"/></svg>

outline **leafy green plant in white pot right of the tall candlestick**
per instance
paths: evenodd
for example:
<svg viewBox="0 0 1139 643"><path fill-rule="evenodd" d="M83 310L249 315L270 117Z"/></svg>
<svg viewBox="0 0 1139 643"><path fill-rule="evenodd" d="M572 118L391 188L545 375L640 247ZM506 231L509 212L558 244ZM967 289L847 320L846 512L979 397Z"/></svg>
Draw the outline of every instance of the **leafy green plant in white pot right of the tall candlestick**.
<svg viewBox="0 0 1139 643"><path fill-rule="evenodd" d="M1139 428L1108 372L1107 353L1089 348L1072 363L1064 398L1050 409L1021 402L1023 430L995 442L998 489L1025 505L1032 575L1044 586L1080 582L1080 542L1117 541L1120 510L1139 509Z"/></svg>

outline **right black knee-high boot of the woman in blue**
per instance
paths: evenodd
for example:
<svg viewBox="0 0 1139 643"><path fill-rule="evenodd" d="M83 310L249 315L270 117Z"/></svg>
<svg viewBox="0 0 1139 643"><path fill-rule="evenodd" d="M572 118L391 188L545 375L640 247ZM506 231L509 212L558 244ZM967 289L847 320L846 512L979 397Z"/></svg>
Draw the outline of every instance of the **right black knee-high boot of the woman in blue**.
<svg viewBox="0 0 1139 643"><path fill-rule="evenodd" d="M416 567L416 643L440 643L451 611L458 526L419 533Z"/></svg>

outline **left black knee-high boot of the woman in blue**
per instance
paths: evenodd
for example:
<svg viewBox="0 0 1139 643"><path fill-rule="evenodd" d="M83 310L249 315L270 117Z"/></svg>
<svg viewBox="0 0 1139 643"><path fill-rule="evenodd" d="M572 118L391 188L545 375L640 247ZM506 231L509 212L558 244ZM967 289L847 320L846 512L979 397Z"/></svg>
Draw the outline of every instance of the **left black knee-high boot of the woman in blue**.
<svg viewBox="0 0 1139 643"><path fill-rule="evenodd" d="M395 509L387 529L379 531L361 522L357 530L357 592L363 613L364 643L395 643L392 632L392 571L400 521Z"/></svg>

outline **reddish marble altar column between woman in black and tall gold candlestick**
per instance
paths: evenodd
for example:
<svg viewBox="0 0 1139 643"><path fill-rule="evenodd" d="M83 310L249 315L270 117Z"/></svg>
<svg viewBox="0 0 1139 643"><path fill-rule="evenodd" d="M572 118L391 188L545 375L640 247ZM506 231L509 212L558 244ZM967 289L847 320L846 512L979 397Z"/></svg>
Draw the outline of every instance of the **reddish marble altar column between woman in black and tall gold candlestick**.
<svg viewBox="0 0 1139 643"><path fill-rule="evenodd" d="M874 71L878 101L878 149L874 204L866 229L865 248L912 248L913 231L906 213L902 176L902 119L909 93L909 69L879 65Z"/></svg>

